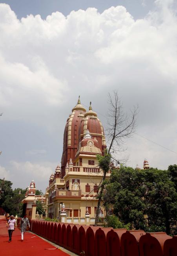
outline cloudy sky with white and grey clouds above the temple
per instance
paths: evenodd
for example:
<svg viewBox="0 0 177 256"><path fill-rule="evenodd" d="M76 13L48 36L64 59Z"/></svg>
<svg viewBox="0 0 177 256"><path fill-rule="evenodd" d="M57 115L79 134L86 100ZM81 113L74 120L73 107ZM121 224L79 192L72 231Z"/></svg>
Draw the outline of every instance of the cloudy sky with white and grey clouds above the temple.
<svg viewBox="0 0 177 256"><path fill-rule="evenodd" d="M139 105L137 134L177 152L176 10L172 0L0 4L0 177L44 191L78 95L106 128L114 89L125 112ZM176 163L139 135L125 145L127 165Z"/></svg>

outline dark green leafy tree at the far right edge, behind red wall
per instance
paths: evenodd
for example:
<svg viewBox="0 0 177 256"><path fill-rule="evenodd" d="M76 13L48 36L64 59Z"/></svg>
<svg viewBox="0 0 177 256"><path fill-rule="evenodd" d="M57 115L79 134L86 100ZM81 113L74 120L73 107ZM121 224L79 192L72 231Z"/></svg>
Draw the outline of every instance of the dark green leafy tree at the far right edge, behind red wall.
<svg viewBox="0 0 177 256"><path fill-rule="evenodd" d="M177 192L169 171L151 168L146 171L145 197L149 224L165 226L167 234L175 231L177 219Z"/></svg>

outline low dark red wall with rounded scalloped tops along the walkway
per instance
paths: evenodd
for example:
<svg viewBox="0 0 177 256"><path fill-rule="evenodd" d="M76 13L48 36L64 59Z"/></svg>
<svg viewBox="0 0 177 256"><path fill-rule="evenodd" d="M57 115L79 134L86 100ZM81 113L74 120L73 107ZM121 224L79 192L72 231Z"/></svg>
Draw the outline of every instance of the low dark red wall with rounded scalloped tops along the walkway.
<svg viewBox="0 0 177 256"><path fill-rule="evenodd" d="M71 252L85 256L177 256L177 236L165 232L31 222L31 231ZM82 252L82 254L81 254Z"/></svg>

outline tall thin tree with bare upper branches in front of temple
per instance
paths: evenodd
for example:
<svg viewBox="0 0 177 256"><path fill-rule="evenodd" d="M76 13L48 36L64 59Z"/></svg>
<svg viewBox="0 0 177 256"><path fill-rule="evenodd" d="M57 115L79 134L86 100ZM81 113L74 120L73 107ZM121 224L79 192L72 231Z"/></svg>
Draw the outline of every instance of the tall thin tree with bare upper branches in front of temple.
<svg viewBox="0 0 177 256"><path fill-rule="evenodd" d="M109 171L112 161L115 161L116 163L119 163L120 161L112 155L124 151L123 145L135 132L138 109L138 107L134 107L133 110L131 110L130 115L124 113L123 104L117 91L113 91L113 96L110 93L108 94L108 102L109 111L106 138L109 148L106 150L104 156L99 158L99 166L103 170L103 178L99 186L95 226L97 226L99 220L100 204L105 188L106 173ZM126 158L124 158L124 161L126 161Z"/></svg>

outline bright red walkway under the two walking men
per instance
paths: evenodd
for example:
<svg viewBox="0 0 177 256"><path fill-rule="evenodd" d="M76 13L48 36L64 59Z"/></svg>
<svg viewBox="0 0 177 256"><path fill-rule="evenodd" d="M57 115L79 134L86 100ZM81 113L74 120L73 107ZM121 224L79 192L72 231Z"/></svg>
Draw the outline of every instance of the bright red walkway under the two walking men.
<svg viewBox="0 0 177 256"><path fill-rule="evenodd" d="M2 256L68 256L60 249L55 249L53 245L47 243L35 234L26 232L25 241L21 241L21 234L18 228L12 235L12 241L8 243L9 236L6 228L6 221L0 219L0 255Z"/></svg>

